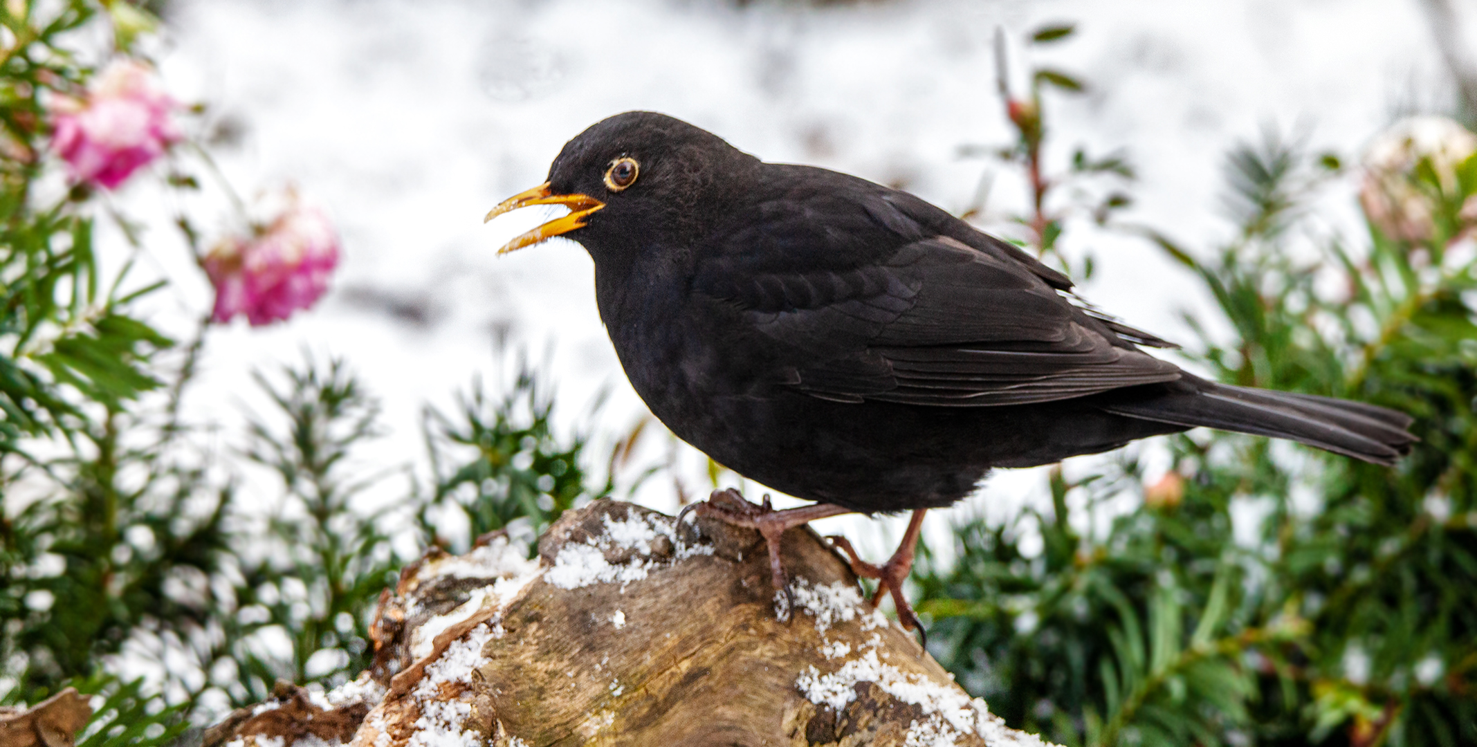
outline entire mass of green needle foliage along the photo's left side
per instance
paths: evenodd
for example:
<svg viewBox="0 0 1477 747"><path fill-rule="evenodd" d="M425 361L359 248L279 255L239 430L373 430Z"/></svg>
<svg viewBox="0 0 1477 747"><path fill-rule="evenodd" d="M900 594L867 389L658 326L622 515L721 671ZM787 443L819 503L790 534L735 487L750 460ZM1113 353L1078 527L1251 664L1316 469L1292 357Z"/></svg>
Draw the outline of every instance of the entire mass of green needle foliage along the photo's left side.
<svg viewBox="0 0 1477 747"><path fill-rule="evenodd" d="M244 459L198 447L180 402L213 323L176 350L133 311L161 283L134 283L111 254L142 248L148 226L87 186L55 189L47 154L43 100L84 90L93 68L78 59L105 52L77 47L111 31L127 55L155 21L123 0L69 0L3 3L0 24L0 703L72 685L103 698L78 744L154 746L279 678L335 685L368 664L396 570L446 539L430 517L533 531L610 492L585 438L555 433L527 368L507 393L474 387L459 412L428 413L428 469L363 471L378 407L338 360L257 376L270 409L223 438ZM219 176L204 148L186 151L199 162L173 154L161 186L199 189L191 164ZM96 242L99 220L127 245ZM173 224L198 257L196 220ZM247 478L250 464L275 487ZM417 471L428 490L388 480ZM154 675L120 682L106 675L120 661Z"/></svg>

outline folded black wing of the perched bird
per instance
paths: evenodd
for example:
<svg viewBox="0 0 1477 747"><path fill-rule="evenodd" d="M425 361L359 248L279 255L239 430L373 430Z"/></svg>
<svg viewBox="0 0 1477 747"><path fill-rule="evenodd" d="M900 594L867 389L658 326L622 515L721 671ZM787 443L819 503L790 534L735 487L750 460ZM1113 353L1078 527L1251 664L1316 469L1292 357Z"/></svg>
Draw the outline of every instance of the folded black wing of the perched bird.
<svg viewBox="0 0 1477 747"><path fill-rule="evenodd" d="M795 387L840 402L994 406L1179 378L1068 301L1044 266L941 235L957 226L863 185L761 204L727 251L699 263L694 289L737 306Z"/></svg>

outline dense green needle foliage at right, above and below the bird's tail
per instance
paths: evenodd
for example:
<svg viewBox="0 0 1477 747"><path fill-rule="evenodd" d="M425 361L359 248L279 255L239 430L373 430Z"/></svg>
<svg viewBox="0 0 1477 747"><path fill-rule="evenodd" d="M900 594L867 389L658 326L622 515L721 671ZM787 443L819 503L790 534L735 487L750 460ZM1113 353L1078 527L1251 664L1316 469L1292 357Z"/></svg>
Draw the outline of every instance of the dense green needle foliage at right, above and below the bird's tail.
<svg viewBox="0 0 1477 747"><path fill-rule="evenodd" d="M1235 241L1201 260L1148 233L1232 329L1186 317L1190 359L1402 409L1422 441L1388 469L1177 436L1148 489L1130 453L1056 469L1052 511L960 526L959 562L916 579L917 610L939 661L1009 723L1069 746L1477 741L1477 258L1461 248L1477 156L1456 180L1411 173L1433 207L1419 241L1374 220L1357 244L1304 230L1338 164L1267 136L1227 159ZM1124 496L1145 505L1074 529Z"/></svg>

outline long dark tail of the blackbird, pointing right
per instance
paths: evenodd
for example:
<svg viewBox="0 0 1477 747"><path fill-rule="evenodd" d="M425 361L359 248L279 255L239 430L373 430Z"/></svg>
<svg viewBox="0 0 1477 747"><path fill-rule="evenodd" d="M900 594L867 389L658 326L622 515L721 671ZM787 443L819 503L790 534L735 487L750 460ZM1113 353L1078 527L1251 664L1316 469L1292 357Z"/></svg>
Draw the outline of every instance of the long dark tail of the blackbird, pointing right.
<svg viewBox="0 0 1477 747"><path fill-rule="evenodd" d="M1102 409L1190 428L1289 438L1382 465L1393 465L1416 441L1406 430L1409 415L1360 402L1232 387L1189 375L1162 388L1136 388L1143 396L1114 399Z"/></svg>

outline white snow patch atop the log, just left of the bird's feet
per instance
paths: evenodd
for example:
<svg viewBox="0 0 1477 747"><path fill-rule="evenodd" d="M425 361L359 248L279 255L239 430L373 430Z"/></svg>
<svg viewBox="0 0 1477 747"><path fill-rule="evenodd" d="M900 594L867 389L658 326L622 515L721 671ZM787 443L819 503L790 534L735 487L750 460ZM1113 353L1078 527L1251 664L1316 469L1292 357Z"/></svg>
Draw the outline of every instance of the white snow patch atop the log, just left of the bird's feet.
<svg viewBox="0 0 1477 747"><path fill-rule="evenodd" d="M710 545L681 545L676 540L676 526L671 518L659 514L637 515L611 520L603 517L606 531L585 542L572 542L560 548L554 557L554 567L544 574L544 579L560 589L582 589L595 583L620 583L622 589L631 583L647 577L663 561L651 560L653 545L659 537L666 537L676 546L676 560L693 555L712 555ZM613 565L606 560L609 549L628 549L645 560L632 558L628 562Z"/></svg>

